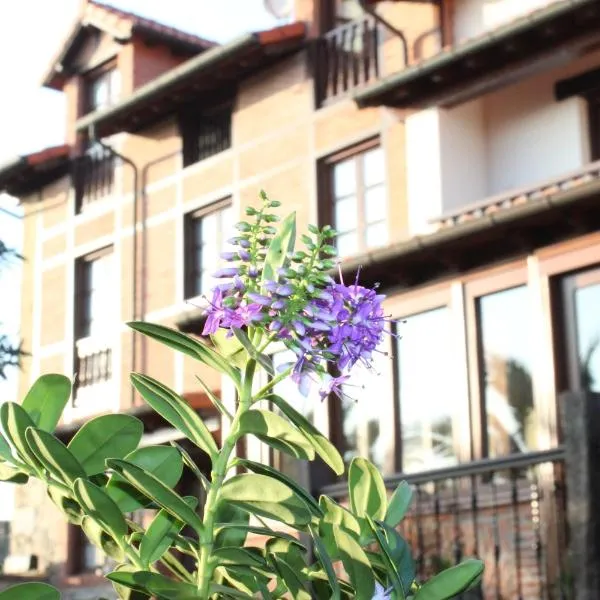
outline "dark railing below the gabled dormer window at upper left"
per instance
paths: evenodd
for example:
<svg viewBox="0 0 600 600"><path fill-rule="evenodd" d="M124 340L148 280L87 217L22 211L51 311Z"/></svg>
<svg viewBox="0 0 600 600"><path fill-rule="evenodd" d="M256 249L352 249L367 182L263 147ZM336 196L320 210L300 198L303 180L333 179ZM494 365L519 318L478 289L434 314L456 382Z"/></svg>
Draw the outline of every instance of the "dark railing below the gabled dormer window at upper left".
<svg viewBox="0 0 600 600"><path fill-rule="evenodd" d="M113 193L116 164L115 154L100 145L93 146L73 161L73 188L78 212Z"/></svg>

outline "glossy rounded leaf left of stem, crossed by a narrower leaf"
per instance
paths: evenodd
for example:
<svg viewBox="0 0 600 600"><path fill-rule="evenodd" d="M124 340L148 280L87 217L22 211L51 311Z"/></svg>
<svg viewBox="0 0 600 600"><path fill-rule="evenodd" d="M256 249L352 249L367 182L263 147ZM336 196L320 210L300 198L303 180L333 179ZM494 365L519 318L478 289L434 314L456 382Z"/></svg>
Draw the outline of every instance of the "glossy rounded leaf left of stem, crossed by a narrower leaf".
<svg viewBox="0 0 600 600"><path fill-rule="evenodd" d="M170 488L175 487L183 473L181 455L171 446L138 448L129 453L125 460L151 473ZM143 508L151 500L116 473L111 475L106 492L124 513Z"/></svg>

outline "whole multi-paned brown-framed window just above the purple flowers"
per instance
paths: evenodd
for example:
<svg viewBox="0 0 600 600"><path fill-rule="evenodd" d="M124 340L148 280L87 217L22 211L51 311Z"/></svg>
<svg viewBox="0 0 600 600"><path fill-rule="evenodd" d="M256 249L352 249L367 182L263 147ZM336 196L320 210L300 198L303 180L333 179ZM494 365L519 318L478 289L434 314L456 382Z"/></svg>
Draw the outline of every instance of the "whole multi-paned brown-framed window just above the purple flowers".
<svg viewBox="0 0 600 600"><path fill-rule="evenodd" d="M376 142L346 151L323 164L323 224L338 231L340 257L388 243L385 158Z"/></svg>

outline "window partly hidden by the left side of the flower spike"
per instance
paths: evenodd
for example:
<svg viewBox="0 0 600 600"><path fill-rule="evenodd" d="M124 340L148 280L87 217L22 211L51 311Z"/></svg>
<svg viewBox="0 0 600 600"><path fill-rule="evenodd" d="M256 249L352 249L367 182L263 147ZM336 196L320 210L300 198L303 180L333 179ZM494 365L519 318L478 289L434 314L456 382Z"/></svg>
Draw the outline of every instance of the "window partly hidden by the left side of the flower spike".
<svg viewBox="0 0 600 600"><path fill-rule="evenodd" d="M185 297L195 298L210 292L216 283L213 274L233 228L231 200L190 213L185 219Z"/></svg>

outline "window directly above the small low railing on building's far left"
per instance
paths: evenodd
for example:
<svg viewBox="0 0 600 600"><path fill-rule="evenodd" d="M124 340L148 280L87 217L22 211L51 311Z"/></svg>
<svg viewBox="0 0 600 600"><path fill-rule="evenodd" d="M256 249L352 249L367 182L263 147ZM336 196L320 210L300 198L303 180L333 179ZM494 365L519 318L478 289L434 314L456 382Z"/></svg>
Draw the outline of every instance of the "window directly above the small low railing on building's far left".
<svg viewBox="0 0 600 600"><path fill-rule="evenodd" d="M75 338L102 337L116 326L112 248L77 261Z"/></svg>

